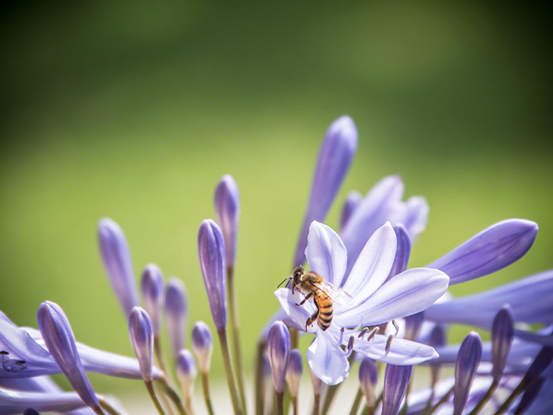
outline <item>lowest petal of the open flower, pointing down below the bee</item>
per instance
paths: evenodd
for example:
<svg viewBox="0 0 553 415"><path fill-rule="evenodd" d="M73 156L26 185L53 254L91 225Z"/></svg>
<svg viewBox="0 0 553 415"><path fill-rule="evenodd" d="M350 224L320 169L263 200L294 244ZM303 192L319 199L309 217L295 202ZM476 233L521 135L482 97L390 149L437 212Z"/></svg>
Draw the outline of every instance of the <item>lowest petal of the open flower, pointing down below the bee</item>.
<svg viewBox="0 0 553 415"><path fill-rule="evenodd" d="M348 377L350 362L335 339L320 331L307 351L311 371L326 385L337 385Z"/></svg>

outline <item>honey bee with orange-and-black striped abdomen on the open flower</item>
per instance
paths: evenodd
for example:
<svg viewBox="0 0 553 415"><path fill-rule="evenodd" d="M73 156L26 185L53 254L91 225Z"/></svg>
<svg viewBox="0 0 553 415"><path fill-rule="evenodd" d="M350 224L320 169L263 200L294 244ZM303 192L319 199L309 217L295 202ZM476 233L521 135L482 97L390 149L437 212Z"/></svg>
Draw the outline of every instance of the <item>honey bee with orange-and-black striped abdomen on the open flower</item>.
<svg viewBox="0 0 553 415"><path fill-rule="evenodd" d="M287 279L292 279L292 294L294 293L294 289L297 289L300 293L302 291L303 293L307 293L306 297L299 304L296 304L297 306L301 306L312 297L315 307L317 307L315 313L306 321L306 331L308 326L315 320L317 320L317 324L319 324L321 330L325 331L328 329L330 323L332 323L332 314L334 313L333 302L345 305L347 299L352 298L346 291L330 284L319 274L313 271L304 272L301 265L294 268L292 277L288 277Z"/></svg>

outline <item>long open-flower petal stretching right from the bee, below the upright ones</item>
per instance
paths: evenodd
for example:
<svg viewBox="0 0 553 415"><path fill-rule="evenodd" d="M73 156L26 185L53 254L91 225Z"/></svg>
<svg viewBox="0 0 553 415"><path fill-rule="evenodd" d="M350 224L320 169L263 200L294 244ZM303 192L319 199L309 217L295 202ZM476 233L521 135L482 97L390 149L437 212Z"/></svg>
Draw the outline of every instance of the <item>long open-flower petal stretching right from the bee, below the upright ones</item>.
<svg viewBox="0 0 553 415"><path fill-rule="evenodd" d="M412 268L390 279L363 304L335 315L334 320L340 326L353 327L413 315L431 306L448 283L449 278L440 270Z"/></svg>

